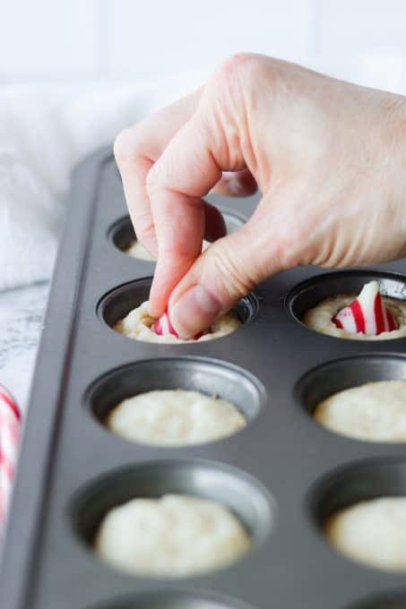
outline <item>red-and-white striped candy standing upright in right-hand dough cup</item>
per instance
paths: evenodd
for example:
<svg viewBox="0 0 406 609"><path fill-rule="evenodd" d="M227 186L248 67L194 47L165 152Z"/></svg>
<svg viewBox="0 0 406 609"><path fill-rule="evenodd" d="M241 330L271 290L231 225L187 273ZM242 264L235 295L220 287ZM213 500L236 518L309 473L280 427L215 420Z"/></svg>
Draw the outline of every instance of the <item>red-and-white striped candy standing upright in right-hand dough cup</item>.
<svg viewBox="0 0 406 609"><path fill-rule="evenodd" d="M351 334L362 332L371 336L397 329L392 313L384 307L376 281L367 283L358 298L337 313L334 323Z"/></svg>

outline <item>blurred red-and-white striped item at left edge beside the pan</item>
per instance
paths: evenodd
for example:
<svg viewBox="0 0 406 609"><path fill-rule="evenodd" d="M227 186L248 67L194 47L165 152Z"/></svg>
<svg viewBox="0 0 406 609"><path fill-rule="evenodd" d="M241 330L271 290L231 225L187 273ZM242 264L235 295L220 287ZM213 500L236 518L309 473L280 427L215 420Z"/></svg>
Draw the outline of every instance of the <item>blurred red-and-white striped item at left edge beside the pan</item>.
<svg viewBox="0 0 406 609"><path fill-rule="evenodd" d="M20 439L21 413L10 391L0 384L0 540L4 536L14 467Z"/></svg>

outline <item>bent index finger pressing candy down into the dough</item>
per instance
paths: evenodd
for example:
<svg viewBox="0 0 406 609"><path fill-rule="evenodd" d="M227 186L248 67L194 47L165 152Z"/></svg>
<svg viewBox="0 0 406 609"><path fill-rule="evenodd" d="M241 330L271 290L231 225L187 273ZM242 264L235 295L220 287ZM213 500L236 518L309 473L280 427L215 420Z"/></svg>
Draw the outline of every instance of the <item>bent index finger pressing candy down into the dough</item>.
<svg viewBox="0 0 406 609"><path fill-rule="evenodd" d="M203 113L196 112L169 142L147 177L159 244L150 294L154 317L164 313L171 291L202 251L202 196L220 180L221 169L243 168L244 161L236 154L235 167L229 164L213 150L211 129Z"/></svg>

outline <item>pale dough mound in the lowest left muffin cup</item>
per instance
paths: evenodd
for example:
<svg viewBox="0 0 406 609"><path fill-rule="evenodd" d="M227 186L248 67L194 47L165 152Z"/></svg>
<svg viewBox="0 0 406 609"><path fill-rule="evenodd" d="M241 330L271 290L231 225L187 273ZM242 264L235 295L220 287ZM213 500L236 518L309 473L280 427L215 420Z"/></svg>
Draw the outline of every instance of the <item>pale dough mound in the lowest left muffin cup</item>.
<svg viewBox="0 0 406 609"><path fill-rule="evenodd" d="M117 569L185 577L233 562L249 545L245 528L221 503L167 494L134 499L110 510L95 549Z"/></svg>

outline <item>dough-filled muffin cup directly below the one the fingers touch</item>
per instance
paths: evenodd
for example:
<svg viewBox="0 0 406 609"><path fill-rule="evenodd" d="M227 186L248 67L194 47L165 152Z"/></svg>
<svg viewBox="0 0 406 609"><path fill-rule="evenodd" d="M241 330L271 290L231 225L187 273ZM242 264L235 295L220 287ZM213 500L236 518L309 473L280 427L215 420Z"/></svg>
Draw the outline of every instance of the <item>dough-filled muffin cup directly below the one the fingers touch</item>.
<svg viewBox="0 0 406 609"><path fill-rule="evenodd" d="M188 392L191 403L177 404ZM146 399L132 403L137 396ZM262 383L238 366L177 357L135 362L103 375L87 391L86 404L100 423L127 440L175 447L237 433L258 415L264 399ZM118 405L125 410L117 413Z"/></svg>

